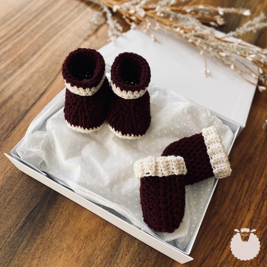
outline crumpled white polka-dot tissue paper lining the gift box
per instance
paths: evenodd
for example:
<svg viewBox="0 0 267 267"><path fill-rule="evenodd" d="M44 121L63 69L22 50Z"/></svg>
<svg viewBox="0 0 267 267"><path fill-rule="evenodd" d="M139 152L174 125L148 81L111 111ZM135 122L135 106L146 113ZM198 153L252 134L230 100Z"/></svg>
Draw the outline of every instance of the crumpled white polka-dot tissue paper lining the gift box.
<svg viewBox="0 0 267 267"><path fill-rule="evenodd" d="M171 234L155 233L143 221L140 180L135 178L133 164L147 156L159 157L170 143L200 133L211 125L218 129L228 150L233 133L209 110L174 91L150 85L148 92L152 119L141 139L120 139L106 122L90 134L73 131L64 119L64 89L33 120L16 151L23 160L47 172L58 183L115 210L136 227L163 241L175 239L177 248L184 250L215 178L186 186L186 209L180 227Z"/></svg>

